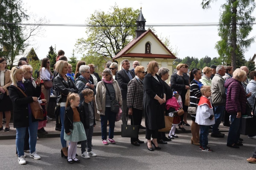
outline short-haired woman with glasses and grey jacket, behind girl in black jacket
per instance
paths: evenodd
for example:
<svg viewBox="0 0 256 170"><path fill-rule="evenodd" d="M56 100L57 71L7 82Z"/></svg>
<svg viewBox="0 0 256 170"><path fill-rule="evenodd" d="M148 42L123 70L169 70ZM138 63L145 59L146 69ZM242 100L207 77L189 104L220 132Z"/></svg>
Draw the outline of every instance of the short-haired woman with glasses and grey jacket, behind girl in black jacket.
<svg viewBox="0 0 256 170"><path fill-rule="evenodd" d="M94 84L90 81L90 67L86 65L82 65L79 68L80 76L75 81L75 86L78 89L78 94L80 96L80 105L84 101L84 97L82 91L86 88L93 90L94 95L96 95L96 89Z"/></svg>

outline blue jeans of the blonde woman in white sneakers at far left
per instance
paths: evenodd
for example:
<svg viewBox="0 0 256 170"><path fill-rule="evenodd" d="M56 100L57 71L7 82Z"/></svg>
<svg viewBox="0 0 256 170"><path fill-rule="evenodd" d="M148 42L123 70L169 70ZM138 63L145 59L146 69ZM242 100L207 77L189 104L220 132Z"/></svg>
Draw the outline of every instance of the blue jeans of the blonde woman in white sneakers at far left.
<svg viewBox="0 0 256 170"><path fill-rule="evenodd" d="M37 144L37 129L38 129L38 121L32 122L32 113L28 115L29 119L29 149L30 153L35 152L35 145ZM16 148L18 151L18 157L24 155L24 138L26 135L27 127L16 128Z"/></svg>

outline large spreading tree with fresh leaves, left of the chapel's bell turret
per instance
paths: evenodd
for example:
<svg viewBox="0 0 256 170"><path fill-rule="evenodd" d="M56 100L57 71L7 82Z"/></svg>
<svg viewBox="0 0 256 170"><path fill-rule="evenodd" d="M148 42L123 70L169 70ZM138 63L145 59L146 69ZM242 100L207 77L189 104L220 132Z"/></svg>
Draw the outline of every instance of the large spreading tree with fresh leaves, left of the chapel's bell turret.
<svg viewBox="0 0 256 170"><path fill-rule="evenodd" d="M107 13L96 10L86 20L91 25L86 30L88 38L77 40L77 50L113 58L135 37L139 13L139 10L119 8L116 4Z"/></svg>

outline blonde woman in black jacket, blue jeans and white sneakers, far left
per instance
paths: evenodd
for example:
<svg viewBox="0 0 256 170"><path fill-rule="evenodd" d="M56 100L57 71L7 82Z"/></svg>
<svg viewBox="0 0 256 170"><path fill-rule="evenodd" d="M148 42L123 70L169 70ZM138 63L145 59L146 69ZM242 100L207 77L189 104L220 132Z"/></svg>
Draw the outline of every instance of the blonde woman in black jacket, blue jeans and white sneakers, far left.
<svg viewBox="0 0 256 170"><path fill-rule="evenodd" d="M27 127L29 130L30 157L41 159L35 152L38 120L34 118L30 108L30 103L37 101L41 95L41 81L37 78L37 86L35 88L31 81L24 81L23 76L24 70L22 68L12 68L11 79L13 83L9 86L9 96L13 103L13 126L16 128L16 148L19 164L26 164L24 158L24 138Z"/></svg>

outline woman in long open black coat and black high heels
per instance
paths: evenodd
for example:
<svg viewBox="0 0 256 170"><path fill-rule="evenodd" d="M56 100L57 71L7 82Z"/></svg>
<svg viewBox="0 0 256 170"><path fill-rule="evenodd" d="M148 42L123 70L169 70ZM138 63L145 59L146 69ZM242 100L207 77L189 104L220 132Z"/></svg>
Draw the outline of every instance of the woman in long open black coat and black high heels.
<svg viewBox="0 0 256 170"><path fill-rule="evenodd" d="M161 149L157 143L158 130L165 128L164 106L162 104L166 102L166 98L161 78L156 74L158 69L156 61L149 62L147 74L143 80L146 139L147 149L150 151L154 151L152 145L155 146L155 149Z"/></svg>

